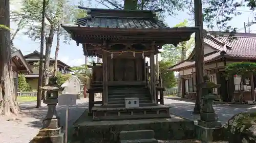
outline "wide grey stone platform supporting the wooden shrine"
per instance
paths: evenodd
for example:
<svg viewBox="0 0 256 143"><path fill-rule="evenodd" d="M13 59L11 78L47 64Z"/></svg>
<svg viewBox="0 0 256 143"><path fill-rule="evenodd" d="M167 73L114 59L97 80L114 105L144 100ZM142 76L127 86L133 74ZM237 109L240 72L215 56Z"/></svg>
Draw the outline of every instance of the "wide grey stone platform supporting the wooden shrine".
<svg viewBox="0 0 256 143"><path fill-rule="evenodd" d="M120 121L93 121L88 116L88 111L74 123L77 140L80 142L94 143L95 141L115 142L120 131L153 130L157 140L182 140L193 139L194 121L171 115L172 118L140 119ZM92 141L91 141L92 140Z"/></svg>

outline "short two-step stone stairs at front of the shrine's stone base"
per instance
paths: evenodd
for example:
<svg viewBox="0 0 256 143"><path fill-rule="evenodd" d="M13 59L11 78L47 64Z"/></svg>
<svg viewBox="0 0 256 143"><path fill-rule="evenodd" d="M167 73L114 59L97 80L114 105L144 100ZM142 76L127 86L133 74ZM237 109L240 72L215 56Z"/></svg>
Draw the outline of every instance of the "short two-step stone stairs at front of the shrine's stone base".
<svg viewBox="0 0 256 143"><path fill-rule="evenodd" d="M119 133L120 143L158 143L153 130L121 131Z"/></svg>

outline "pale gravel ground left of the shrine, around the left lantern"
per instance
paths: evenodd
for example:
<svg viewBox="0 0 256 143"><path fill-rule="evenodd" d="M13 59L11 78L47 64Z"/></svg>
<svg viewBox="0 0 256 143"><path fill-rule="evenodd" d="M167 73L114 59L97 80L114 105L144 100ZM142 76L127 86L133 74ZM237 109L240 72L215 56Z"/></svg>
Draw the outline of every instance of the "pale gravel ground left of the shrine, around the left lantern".
<svg viewBox="0 0 256 143"><path fill-rule="evenodd" d="M0 116L0 143L28 143L38 133L42 126L42 119L47 113L46 104L35 108L36 103L20 103L22 115L16 120ZM77 100L77 105L69 109L69 126L82 114L88 107L88 98ZM66 107L57 106L57 112L60 116L61 126L65 126ZM9 120L9 121L8 121Z"/></svg>

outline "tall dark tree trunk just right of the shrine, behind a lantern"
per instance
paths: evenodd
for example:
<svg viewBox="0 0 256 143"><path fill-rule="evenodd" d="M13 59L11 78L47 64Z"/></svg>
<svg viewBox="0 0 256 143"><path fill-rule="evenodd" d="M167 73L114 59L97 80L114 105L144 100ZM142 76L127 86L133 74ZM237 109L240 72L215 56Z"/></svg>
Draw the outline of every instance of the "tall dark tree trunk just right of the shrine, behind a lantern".
<svg viewBox="0 0 256 143"><path fill-rule="evenodd" d="M202 1L194 1L195 8L195 25L199 27L199 31L195 34L195 50L196 50L196 84L197 84L197 99L194 108L194 113L200 113L202 109L202 88L198 86L200 83L203 83L204 79L204 49L203 49L203 14L202 14Z"/></svg>

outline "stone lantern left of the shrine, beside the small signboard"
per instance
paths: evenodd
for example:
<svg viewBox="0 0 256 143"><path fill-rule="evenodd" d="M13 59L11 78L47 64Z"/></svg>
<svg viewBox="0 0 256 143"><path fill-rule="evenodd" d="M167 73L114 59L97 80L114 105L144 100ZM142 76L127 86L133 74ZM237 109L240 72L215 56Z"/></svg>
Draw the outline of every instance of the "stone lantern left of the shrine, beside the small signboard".
<svg viewBox="0 0 256 143"><path fill-rule="evenodd" d="M40 87L41 90L46 91L43 102L47 104L48 111L45 119L42 121L42 129L34 137L32 142L44 143L62 143L64 142L64 133L61 133L62 128L59 124L59 117L56 111L59 93L63 90L57 84L57 77L52 76L49 78L49 83L45 87Z"/></svg>

